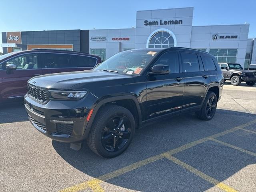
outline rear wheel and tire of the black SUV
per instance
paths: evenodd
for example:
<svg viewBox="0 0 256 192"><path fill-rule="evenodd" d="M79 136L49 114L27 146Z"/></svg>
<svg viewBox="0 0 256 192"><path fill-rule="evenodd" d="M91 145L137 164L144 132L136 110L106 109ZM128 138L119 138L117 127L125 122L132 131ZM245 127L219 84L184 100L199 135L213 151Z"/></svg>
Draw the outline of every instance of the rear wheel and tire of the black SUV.
<svg viewBox="0 0 256 192"><path fill-rule="evenodd" d="M211 120L216 112L217 102L218 100L216 94L209 91L206 95L201 110L196 112L196 116L202 120Z"/></svg>

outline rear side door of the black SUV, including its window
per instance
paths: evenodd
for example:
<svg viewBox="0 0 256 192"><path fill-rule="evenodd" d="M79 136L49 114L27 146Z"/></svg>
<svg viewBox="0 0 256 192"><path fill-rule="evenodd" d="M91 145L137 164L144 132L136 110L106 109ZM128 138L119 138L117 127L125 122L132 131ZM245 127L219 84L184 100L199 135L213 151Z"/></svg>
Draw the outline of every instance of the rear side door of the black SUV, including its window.
<svg viewBox="0 0 256 192"><path fill-rule="evenodd" d="M197 108L202 104L211 79L208 72L204 71L199 54L180 52L180 56L185 80L182 110Z"/></svg>

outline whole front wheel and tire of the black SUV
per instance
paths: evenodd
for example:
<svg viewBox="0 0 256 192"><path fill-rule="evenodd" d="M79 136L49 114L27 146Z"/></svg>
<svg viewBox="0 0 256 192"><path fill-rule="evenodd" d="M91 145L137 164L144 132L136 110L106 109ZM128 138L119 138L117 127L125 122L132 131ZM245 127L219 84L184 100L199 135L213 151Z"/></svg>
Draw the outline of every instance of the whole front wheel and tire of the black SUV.
<svg viewBox="0 0 256 192"><path fill-rule="evenodd" d="M107 105L96 115L87 144L99 156L113 158L128 148L134 133L132 113L121 106Z"/></svg>

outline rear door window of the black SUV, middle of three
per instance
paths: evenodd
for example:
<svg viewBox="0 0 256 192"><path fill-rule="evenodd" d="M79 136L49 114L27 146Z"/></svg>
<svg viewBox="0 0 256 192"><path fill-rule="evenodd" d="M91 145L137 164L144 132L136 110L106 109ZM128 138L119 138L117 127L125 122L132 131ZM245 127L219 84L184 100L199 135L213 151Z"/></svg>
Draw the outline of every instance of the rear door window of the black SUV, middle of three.
<svg viewBox="0 0 256 192"><path fill-rule="evenodd" d="M200 71L198 57L196 54L181 53L182 72Z"/></svg>

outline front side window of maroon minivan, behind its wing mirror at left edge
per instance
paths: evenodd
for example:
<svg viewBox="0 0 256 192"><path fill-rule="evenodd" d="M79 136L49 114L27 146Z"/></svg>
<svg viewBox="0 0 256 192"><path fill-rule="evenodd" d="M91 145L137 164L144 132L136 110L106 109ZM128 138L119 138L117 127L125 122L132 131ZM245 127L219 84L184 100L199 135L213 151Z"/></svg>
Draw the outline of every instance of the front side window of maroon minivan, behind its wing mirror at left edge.
<svg viewBox="0 0 256 192"><path fill-rule="evenodd" d="M6 65L7 64L16 65L17 70L38 69L38 54L20 55L18 57L7 60ZM4 69L6 69L5 65Z"/></svg>

